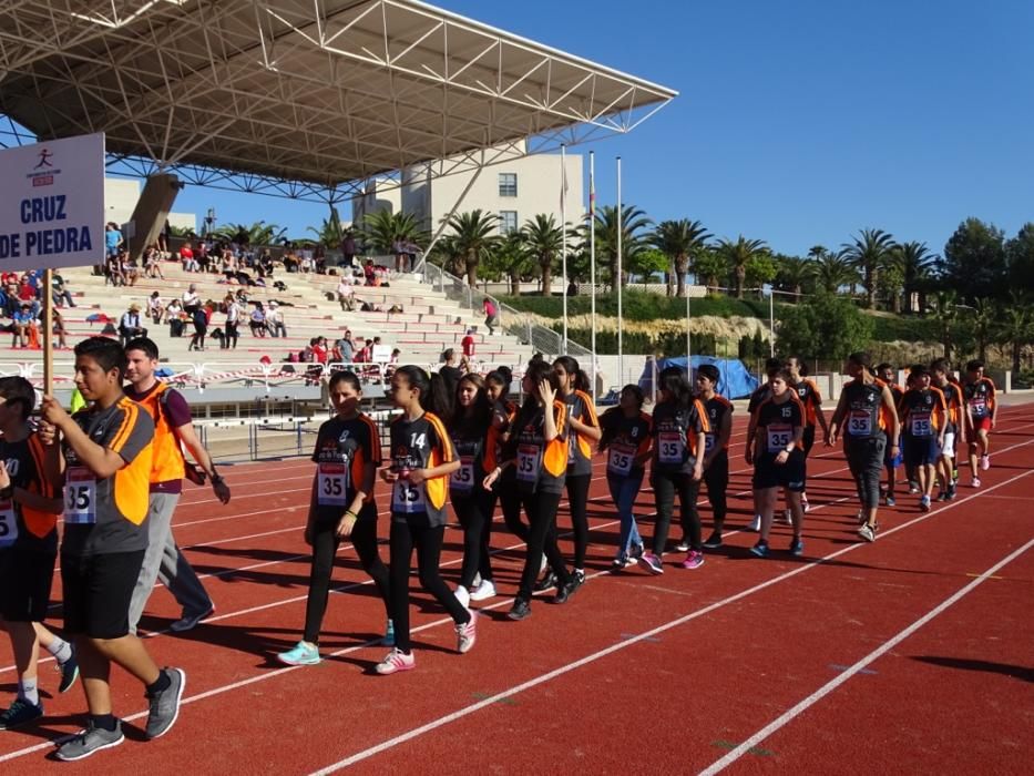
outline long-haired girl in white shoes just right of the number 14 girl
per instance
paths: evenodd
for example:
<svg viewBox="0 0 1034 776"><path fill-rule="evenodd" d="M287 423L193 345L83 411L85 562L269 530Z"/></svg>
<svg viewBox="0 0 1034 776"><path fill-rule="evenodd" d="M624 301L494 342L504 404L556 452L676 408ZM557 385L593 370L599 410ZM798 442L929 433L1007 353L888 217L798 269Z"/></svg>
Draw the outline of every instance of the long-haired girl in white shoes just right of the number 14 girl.
<svg viewBox="0 0 1034 776"><path fill-rule="evenodd" d="M463 566L455 596L467 606L474 590L474 578L481 574L492 581L489 560L489 535L495 497L484 488L484 452L492 425L492 404L480 375L469 372L455 388L455 412L449 422L452 447L460 468L452 472L449 493L452 509L463 527ZM492 585L494 588L494 583Z"/></svg>

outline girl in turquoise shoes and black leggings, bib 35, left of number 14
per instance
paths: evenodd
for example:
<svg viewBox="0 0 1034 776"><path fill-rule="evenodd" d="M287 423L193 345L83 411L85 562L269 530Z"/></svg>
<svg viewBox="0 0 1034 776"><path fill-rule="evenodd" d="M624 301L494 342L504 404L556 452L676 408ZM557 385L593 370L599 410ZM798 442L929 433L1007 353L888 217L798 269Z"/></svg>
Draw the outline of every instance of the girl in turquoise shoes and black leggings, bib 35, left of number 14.
<svg viewBox="0 0 1034 776"><path fill-rule="evenodd" d="M313 548L305 632L294 647L277 655L287 665L319 663L319 631L327 611L334 558L342 540L350 539L362 570L370 575L388 612L385 642L395 643L389 605L388 568L377 551L377 504L373 483L381 463L380 435L373 421L359 411L362 388L350 371L330 377L330 405L335 417L319 427L313 462L313 491L305 543Z"/></svg>

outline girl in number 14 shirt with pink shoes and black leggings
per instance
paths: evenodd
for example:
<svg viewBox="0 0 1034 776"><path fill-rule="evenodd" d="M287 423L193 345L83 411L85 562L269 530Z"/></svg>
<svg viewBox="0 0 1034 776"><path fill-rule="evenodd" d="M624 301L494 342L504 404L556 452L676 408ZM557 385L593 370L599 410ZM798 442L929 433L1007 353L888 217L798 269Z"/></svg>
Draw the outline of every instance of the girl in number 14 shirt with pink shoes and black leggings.
<svg viewBox="0 0 1034 776"><path fill-rule="evenodd" d="M455 622L457 650L469 652L478 617L461 604L438 571L446 532L449 477L460 468L441 417L449 417L449 395L441 380L420 367L399 367L391 376L391 401L402 415L391 423L391 467L380 476L391 486L391 621L395 649L377 664L393 674L416 666L409 635L409 566L413 550L420 584Z"/></svg>

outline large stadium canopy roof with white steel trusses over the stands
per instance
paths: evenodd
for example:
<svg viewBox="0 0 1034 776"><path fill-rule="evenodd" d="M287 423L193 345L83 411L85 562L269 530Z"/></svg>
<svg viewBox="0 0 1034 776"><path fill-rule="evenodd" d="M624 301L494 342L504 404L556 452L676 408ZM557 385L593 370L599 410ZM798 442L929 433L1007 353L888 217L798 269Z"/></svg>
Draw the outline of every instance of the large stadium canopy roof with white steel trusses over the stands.
<svg viewBox="0 0 1034 776"><path fill-rule="evenodd" d="M628 132L674 96L414 0L0 0L0 142L103 131L116 174L335 203Z"/></svg>

